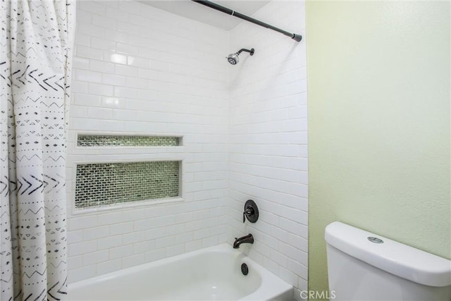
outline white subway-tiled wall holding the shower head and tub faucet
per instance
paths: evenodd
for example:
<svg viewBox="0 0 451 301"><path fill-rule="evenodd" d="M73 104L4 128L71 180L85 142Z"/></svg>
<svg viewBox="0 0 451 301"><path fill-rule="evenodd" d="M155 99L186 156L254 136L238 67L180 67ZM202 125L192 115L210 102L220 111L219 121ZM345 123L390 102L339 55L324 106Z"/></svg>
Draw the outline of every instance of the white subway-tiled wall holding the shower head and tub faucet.
<svg viewBox="0 0 451 301"><path fill-rule="evenodd" d="M305 36L304 1L271 1L253 15ZM305 38L305 37L304 37ZM296 288L307 288L307 70L305 42L240 23L230 49L254 47L230 66L228 242ZM247 199L260 209L242 223Z"/></svg>

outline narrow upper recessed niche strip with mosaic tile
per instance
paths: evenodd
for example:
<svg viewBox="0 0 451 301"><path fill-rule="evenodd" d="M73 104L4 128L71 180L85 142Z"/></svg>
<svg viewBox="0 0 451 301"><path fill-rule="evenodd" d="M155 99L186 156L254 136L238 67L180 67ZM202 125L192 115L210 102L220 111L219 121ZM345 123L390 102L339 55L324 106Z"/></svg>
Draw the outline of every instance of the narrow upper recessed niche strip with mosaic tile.
<svg viewBox="0 0 451 301"><path fill-rule="evenodd" d="M79 147L177 147L180 137L135 135L78 135Z"/></svg>

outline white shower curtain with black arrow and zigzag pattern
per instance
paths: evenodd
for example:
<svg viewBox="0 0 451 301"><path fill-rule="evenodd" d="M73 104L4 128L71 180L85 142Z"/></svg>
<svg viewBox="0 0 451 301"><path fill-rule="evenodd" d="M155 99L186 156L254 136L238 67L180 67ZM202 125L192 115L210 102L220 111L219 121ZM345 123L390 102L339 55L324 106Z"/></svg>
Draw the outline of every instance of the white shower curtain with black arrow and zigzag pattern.
<svg viewBox="0 0 451 301"><path fill-rule="evenodd" d="M0 0L0 300L66 295L75 1Z"/></svg>

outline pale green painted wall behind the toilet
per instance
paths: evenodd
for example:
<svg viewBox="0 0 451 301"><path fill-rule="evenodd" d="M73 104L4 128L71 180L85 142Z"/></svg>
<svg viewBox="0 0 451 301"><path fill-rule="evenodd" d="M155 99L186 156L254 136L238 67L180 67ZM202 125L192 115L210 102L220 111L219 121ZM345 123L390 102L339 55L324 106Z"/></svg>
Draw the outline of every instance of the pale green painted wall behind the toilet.
<svg viewBox="0 0 451 301"><path fill-rule="evenodd" d="M451 258L450 2L308 1L309 288L342 221Z"/></svg>

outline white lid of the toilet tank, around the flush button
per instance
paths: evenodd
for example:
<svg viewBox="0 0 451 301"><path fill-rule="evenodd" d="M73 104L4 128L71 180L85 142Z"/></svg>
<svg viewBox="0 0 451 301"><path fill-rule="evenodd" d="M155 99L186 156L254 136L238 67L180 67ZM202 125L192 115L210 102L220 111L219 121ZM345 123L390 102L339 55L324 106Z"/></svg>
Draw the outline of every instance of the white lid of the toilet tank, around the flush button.
<svg viewBox="0 0 451 301"><path fill-rule="evenodd" d="M435 287L451 285L451 261L442 257L339 221L326 227L325 238L328 245L398 277Z"/></svg>

